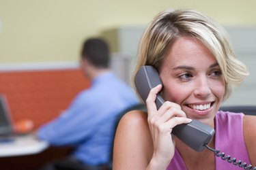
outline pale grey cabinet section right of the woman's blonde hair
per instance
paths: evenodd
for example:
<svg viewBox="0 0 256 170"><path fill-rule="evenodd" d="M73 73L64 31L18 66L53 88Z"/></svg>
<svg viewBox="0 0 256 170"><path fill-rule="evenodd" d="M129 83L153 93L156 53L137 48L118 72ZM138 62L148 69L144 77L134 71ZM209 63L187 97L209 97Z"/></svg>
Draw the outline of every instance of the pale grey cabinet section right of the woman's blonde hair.
<svg viewBox="0 0 256 170"><path fill-rule="evenodd" d="M227 27L231 43L238 58L250 75L236 88L223 105L256 105L256 27Z"/></svg>

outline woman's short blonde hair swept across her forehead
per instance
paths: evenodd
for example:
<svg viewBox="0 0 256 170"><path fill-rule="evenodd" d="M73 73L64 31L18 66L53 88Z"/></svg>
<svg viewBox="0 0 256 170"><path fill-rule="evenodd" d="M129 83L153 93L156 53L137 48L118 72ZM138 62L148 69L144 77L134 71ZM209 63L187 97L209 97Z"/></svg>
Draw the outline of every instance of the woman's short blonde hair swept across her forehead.
<svg viewBox="0 0 256 170"><path fill-rule="evenodd" d="M246 66L236 58L228 34L220 24L195 10L165 10L150 22L143 34L132 80L143 65L159 69L169 47L179 37L195 37L214 54L225 79L225 99L233 86L242 83L248 75Z"/></svg>

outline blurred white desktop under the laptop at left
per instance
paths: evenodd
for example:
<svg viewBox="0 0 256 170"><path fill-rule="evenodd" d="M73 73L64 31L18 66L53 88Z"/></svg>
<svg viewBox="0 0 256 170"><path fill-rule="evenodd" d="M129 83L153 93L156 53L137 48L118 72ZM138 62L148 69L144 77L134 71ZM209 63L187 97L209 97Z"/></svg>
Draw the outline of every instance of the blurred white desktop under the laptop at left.
<svg viewBox="0 0 256 170"><path fill-rule="evenodd" d="M36 139L34 135L12 137L12 141L0 142L0 157L38 154L48 148L46 141Z"/></svg>

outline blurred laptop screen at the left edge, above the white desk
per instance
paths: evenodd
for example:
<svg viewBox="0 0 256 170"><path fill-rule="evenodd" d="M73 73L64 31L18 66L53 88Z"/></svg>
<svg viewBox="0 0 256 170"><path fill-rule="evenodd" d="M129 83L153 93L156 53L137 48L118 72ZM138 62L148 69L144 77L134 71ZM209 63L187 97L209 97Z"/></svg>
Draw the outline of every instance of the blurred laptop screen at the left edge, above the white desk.
<svg viewBox="0 0 256 170"><path fill-rule="evenodd" d="M12 122L8 109L8 102L4 95L0 95L0 135L12 133Z"/></svg>

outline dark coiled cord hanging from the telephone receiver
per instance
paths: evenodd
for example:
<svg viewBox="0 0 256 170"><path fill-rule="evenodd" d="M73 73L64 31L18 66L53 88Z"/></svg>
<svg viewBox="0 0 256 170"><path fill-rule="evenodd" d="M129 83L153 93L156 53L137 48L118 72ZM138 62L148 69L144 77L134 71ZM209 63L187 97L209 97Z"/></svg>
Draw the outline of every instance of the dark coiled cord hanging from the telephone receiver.
<svg viewBox="0 0 256 170"><path fill-rule="evenodd" d="M221 152L221 150L214 150L213 148L210 148L210 146L208 146L207 144L205 144L205 147L208 148L208 150L214 152L216 156L221 157L223 160L227 160L228 163L233 163L233 165L238 165L240 168L256 170L256 167L253 167L253 165L247 165L246 163L242 163L241 160L236 161L236 158L231 159L231 156L229 155L225 156L225 153Z"/></svg>

